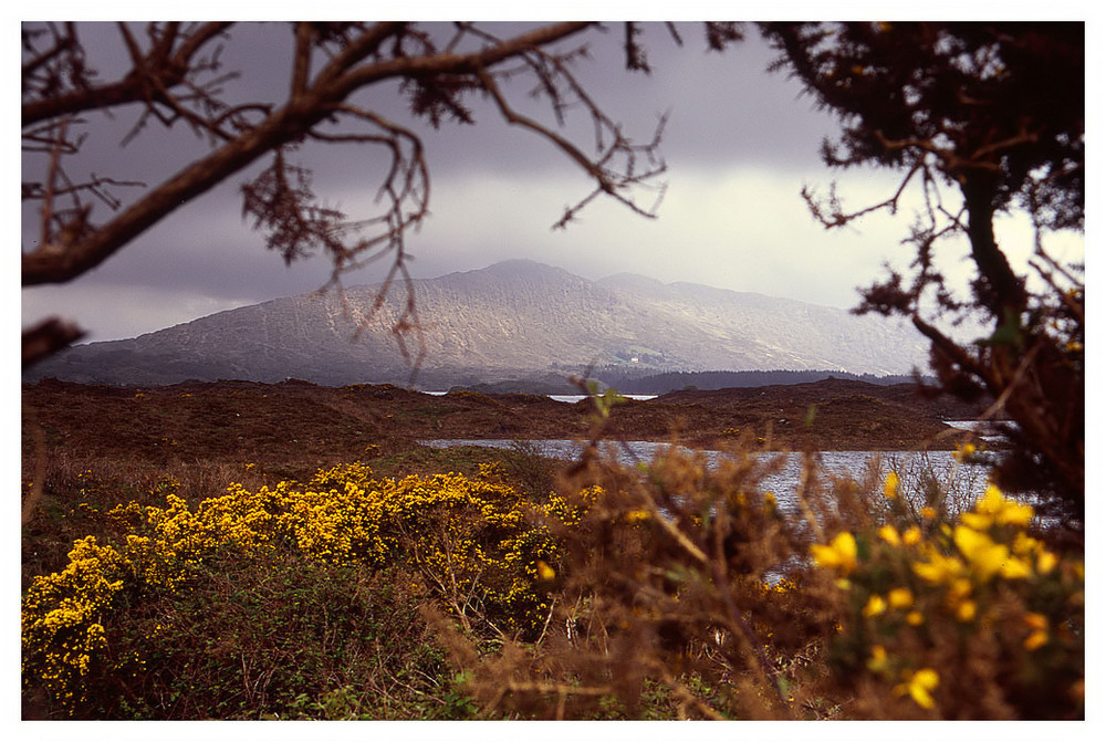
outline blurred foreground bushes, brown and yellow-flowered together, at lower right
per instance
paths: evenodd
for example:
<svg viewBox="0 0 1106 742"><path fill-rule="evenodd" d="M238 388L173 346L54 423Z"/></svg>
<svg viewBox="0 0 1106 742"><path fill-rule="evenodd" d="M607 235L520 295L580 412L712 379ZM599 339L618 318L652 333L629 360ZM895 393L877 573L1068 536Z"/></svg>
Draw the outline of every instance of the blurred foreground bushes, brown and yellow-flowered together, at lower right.
<svg viewBox="0 0 1106 742"><path fill-rule="evenodd" d="M783 511L773 462L591 458L542 648L461 649L486 712L542 718L1083 715L1083 564L994 487L964 512L899 479L820 482ZM1034 535L1035 534L1035 535ZM457 637L455 637L455 641Z"/></svg>

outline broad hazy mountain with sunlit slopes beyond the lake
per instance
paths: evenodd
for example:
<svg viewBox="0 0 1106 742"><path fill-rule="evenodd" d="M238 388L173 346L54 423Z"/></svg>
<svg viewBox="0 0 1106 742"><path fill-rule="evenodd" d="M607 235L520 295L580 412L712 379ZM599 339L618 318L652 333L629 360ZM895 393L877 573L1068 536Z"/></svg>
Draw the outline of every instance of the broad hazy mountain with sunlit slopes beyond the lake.
<svg viewBox="0 0 1106 742"><path fill-rule="evenodd" d="M588 281L524 260L414 282L426 355L422 388L563 379L617 368L830 369L902 374L922 363L910 327L843 310L633 274ZM288 377L324 385L410 378L395 335L406 295L379 286L303 294L219 312L131 339L74 346L24 380L159 385ZM357 333L358 327L361 333ZM414 338L408 338L415 347Z"/></svg>

